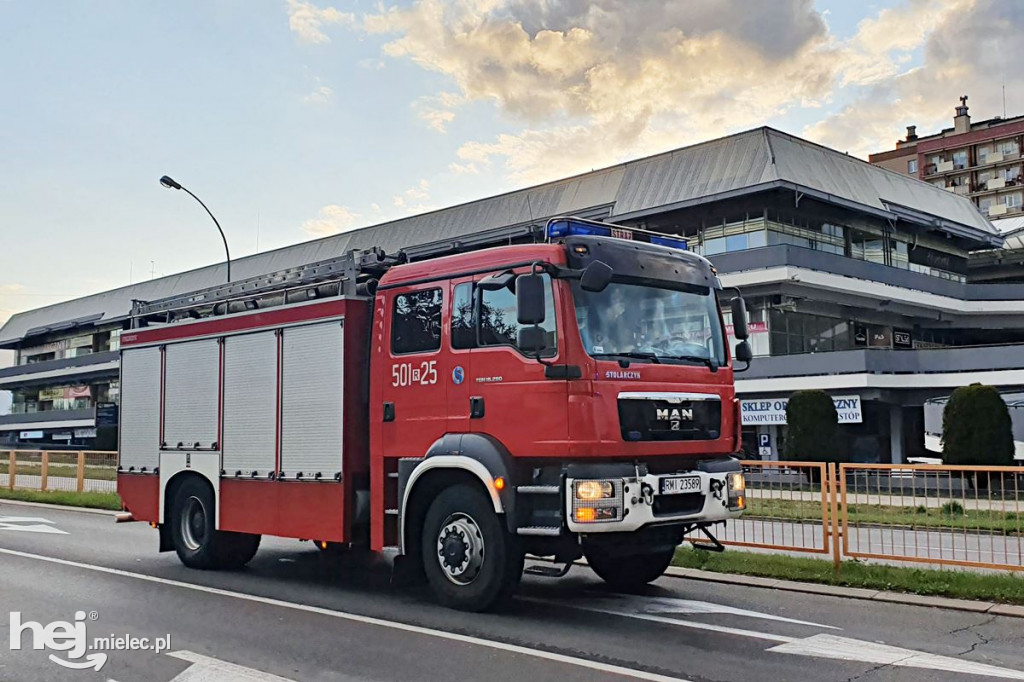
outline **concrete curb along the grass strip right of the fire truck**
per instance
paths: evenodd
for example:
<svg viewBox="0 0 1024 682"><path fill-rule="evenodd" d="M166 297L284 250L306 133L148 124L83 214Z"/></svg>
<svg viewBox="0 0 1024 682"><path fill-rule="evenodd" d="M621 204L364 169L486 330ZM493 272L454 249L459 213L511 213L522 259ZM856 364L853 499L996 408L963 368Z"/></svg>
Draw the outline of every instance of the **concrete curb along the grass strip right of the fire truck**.
<svg viewBox="0 0 1024 682"><path fill-rule="evenodd" d="M904 594L902 592L886 592L884 590L865 590L863 588L818 585L816 583L797 583L795 581L781 581L773 578L760 578L757 576L716 573L710 570L700 570L698 568L680 568L678 566L669 566L668 570L665 571L665 576L667 578L705 581L707 583L721 583L723 585L741 585L744 587L766 588L769 590L782 590L785 592L802 592L805 594L818 594L830 597L843 597L846 599L865 599L867 601L881 601L909 606L928 606L932 608L945 608L947 610L970 611L973 613L988 613L990 615L1008 615L1011 617L1024 619L1024 606L1018 606L1015 604L996 604L990 601L950 599L949 597L932 597L920 594Z"/></svg>

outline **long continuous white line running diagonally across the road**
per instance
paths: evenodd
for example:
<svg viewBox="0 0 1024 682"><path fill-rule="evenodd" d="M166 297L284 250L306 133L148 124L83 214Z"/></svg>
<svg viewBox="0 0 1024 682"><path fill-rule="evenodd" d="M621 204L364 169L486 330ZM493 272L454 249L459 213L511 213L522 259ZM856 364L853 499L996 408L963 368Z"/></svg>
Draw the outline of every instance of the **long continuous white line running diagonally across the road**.
<svg viewBox="0 0 1024 682"><path fill-rule="evenodd" d="M73 568L82 568L84 570L92 570L99 573L108 573L110 576L121 576L122 578L133 578L138 581L143 581L146 583L156 583L159 585L167 585L170 587L178 587L185 590L194 590L196 592L203 592L206 594L218 595L221 597L229 597L231 599L244 599L246 601L252 601L260 604L266 604L268 606L279 606L281 608L290 608L297 611L305 611L307 613L318 613L319 615L327 615L330 617L340 619L342 621L348 621L351 623L360 623L364 625L372 625L380 628L388 628L391 630L398 630L401 632L414 633L417 635L425 635L427 637L436 637L438 639L446 639L454 642L460 642L463 644L472 644L475 646L483 646L490 649L497 649L500 651L507 651L509 653L518 653L525 656L531 656L535 658L543 658L545 660L553 660L555 663L562 663L568 666L577 666L578 668L587 668L589 670L598 671L601 673L608 673L611 675L621 675L623 677L632 677L638 680L649 680L650 682L687 682L686 680L678 677L670 677L668 675L658 675L656 673L648 673L642 670L635 670L633 668L625 668L623 666L613 666L610 664L603 664L597 660L589 660L587 658L580 658L578 656L565 655L562 653L555 653L553 651L545 651L543 649L531 649L525 646L519 646L517 644L506 644L505 642L499 642L490 639L482 639L479 637L472 637L469 635L459 635L456 633L444 632L442 630L433 630L431 628L424 628L421 626L408 625L406 623L397 623L394 621L385 621L383 619L376 619L370 615L359 615L357 613L348 613L345 611L336 611L329 608L322 608L319 606L309 606L307 604L296 604L289 601L283 601L281 599L273 599L272 597L260 597L252 594L245 594L244 592L234 592L232 590L222 590L220 588L206 587L205 585L194 585L191 583L184 583L181 581L170 580L167 578L157 578L156 576L146 576L144 573L135 573L130 570L122 570L120 568L110 568L108 566L97 566L91 563L82 563L80 561L71 561L69 559L58 559L52 556L43 556L41 554L32 554L30 552L19 552L17 550L10 550L0 548L0 554L8 554L10 556L18 556L25 559L35 559L37 561L45 561L47 563L55 563L61 566L71 566Z"/></svg>

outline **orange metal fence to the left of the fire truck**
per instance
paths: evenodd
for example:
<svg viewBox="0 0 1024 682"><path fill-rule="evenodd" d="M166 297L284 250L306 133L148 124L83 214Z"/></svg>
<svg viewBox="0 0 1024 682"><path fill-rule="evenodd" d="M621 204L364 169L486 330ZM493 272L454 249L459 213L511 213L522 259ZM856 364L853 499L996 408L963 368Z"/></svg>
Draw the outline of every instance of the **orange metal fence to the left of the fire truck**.
<svg viewBox="0 0 1024 682"><path fill-rule="evenodd" d="M116 493L117 471L112 452L0 451L0 487L9 491Z"/></svg>

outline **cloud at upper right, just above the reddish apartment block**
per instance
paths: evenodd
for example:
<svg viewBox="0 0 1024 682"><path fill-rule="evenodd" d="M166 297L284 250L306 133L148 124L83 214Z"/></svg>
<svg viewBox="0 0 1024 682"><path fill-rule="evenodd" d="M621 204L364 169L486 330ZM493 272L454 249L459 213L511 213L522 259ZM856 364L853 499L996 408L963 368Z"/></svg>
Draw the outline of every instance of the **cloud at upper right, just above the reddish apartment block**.
<svg viewBox="0 0 1024 682"><path fill-rule="evenodd" d="M970 95L975 120L1001 114L1001 86L1010 104L1024 104L1024 73L1013 61L1024 35L1024 4L1001 0L942 3L922 45L920 68L866 89L843 110L807 126L803 134L860 157L892 148L916 125L920 134L952 123L958 97ZM863 25L861 25L863 29Z"/></svg>

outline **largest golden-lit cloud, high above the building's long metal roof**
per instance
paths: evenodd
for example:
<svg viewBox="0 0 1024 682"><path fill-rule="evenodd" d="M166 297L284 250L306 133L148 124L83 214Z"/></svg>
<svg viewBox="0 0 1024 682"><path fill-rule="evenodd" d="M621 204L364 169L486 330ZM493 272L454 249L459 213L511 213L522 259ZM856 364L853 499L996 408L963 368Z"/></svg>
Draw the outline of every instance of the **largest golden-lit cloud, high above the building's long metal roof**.
<svg viewBox="0 0 1024 682"><path fill-rule="evenodd" d="M521 126L463 144L453 172L499 160L521 182L820 102L840 63L809 0L420 0L360 26L388 38L386 56L455 85L414 103L428 126L447 129L473 101Z"/></svg>

